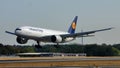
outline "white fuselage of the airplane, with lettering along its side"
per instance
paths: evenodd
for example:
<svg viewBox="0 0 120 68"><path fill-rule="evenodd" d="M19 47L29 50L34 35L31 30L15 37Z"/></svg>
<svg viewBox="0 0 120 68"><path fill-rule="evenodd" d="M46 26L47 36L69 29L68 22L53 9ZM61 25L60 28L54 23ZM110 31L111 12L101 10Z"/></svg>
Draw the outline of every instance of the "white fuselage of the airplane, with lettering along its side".
<svg viewBox="0 0 120 68"><path fill-rule="evenodd" d="M55 31L55 30L49 30L49 29L43 29L43 28L36 28L36 27L30 27L30 26L24 26L17 28L15 30L15 34L20 37L28 38L28 39L34 39L39 40L42 42L51 42L49 39L41 39L41 37L46 36L52 36L52 35L61 35L61 34L69 34L68 32L62 32L62 31ZM39 39L40 38L40 39ZM73 37L65 38L63 42L69 42L74 40Z"/></svg>

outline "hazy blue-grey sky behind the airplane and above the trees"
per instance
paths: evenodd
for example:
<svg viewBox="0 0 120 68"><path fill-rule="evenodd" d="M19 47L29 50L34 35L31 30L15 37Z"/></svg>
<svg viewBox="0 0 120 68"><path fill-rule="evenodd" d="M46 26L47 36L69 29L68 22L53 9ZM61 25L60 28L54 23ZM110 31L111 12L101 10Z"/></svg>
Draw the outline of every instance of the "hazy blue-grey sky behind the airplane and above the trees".
<svg viewBox="0 0 120 68"><path fill-rule="evenodd" d="M120 43L120 0L0 0L0 43L18 44L5 31L21 26L67 31L75 16L76 32L114 27L84 38L84 44ZM71 43L81 44L81 38Z"/></svg>

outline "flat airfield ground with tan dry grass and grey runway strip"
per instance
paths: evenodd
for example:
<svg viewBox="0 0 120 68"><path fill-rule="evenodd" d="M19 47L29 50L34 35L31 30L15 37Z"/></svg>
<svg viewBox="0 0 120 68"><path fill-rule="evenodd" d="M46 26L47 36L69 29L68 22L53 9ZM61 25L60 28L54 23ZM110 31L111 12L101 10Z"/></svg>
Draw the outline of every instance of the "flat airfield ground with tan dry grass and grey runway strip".
<svg viewBox="0 0 120 68"><path fill-rule="evenodd" d="M120 57L0 57L0 67L93 68L98 66L120 68Z"/></svg>

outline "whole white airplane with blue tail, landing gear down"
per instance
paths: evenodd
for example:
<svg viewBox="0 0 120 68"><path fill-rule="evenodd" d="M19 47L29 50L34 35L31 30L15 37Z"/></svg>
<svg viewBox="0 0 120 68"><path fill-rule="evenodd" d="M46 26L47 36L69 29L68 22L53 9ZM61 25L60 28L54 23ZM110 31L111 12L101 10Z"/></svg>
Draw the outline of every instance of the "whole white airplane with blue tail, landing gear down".
<svg viewBox="0 0 120 68"><path fill-rule="evenodd" d="M100 30L75 33L77 19L78 16L75 16L67 32L31 27L31 26L23 26L16 28L15 32L10 32L10 31L5 31L5 32L8 34L16 35L17 36L16 41L19 44L25 44L28 42L28 40L35 40L37 42L37 45L35 47L38 48L41 47L40 42L52 42L57 44L55 46L58 46L59 43L70 42L79 37L94 36L90 34L112 29L112 28L106 28Z"/></svg>

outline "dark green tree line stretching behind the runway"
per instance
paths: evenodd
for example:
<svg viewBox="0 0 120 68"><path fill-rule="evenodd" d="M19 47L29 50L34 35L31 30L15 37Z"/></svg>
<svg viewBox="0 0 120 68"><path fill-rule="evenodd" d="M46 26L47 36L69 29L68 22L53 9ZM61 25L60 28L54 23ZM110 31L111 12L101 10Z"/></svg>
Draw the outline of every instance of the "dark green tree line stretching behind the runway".
<svg viewBox="0 0 120 68"><path fill-rule="evenodd" d="M0 44L0 55L15 55L16 53L55 52L55 53L86 53L87 56L120 56L120 44L64 44L58 48L54 45L45 45L35 48L34 45L3 45Z"/></svg>

